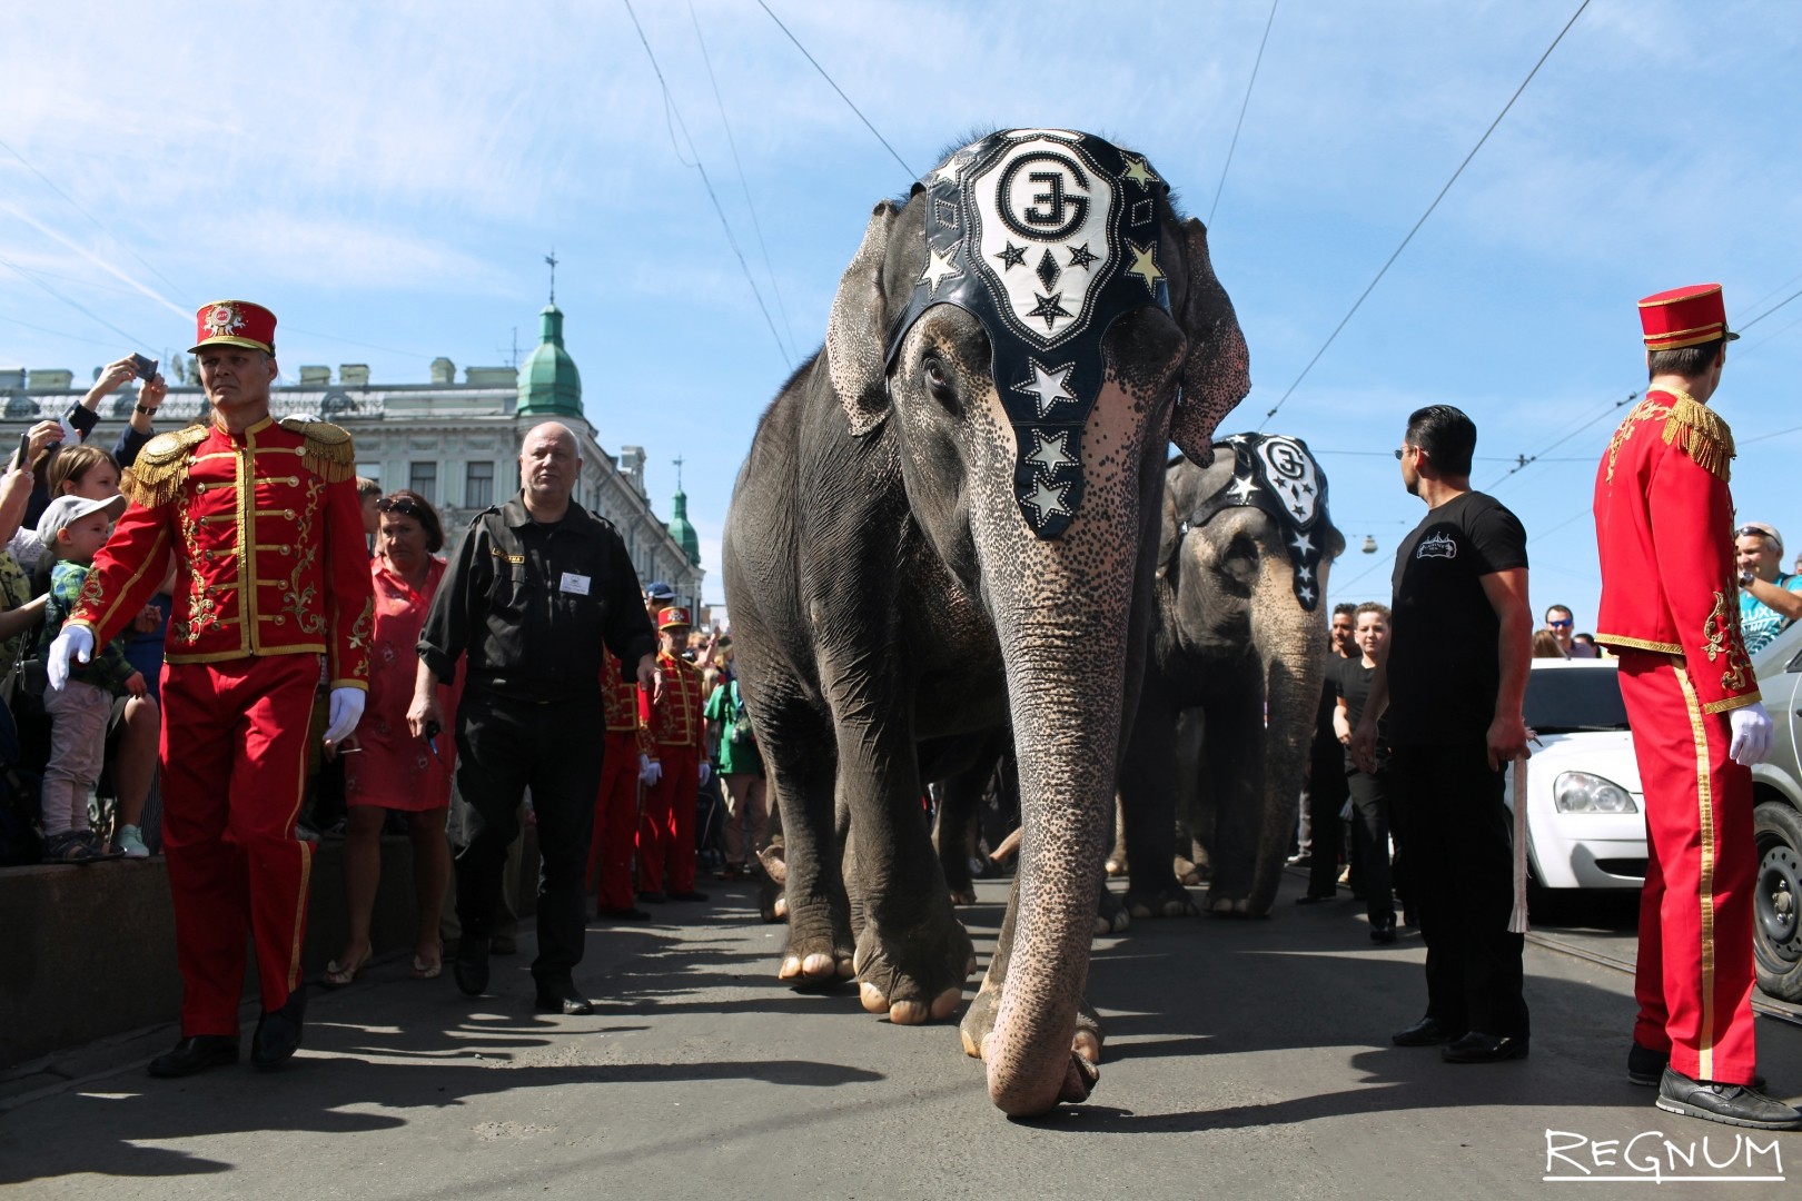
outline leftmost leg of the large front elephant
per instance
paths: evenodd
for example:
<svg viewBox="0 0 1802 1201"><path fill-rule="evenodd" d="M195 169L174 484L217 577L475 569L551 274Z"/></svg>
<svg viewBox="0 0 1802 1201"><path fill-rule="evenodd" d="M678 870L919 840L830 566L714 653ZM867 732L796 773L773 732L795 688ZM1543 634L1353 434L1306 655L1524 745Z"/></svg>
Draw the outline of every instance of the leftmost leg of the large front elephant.
<svg viewBox="0 0 1802 1201"><path fill-rule="evenodd" d="M789 936L778 976L802 987L849 980L856 944L833 821L836 756L829 744L802 756L766 747L766 763L786 821L782 895Z"/></svg>

